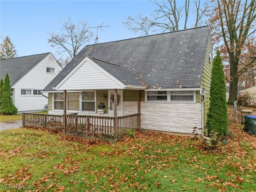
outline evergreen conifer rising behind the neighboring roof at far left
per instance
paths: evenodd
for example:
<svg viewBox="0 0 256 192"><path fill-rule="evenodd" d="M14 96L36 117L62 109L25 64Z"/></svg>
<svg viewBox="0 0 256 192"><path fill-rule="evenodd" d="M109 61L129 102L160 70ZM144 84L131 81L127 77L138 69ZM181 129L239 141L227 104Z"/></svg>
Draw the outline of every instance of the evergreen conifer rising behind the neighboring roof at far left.
<svg viewBox="0 0 256 192"><path fill-rule="evenodd" d="M17 51L10 38L6 36L3 43L0 44L0 59L11 59L17 57Z"/></svg>

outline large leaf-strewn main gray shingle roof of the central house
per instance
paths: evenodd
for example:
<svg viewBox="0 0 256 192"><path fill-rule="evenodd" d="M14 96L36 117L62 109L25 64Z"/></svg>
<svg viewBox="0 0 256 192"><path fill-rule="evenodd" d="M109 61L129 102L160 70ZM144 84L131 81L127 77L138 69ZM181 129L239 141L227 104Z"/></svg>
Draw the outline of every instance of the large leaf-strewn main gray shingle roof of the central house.
<svg viewBox="0 0 256 192"><path fill-rule="evenodd" d="M88 45L44 90L52 90L85 56L126 67L150 88L198 88L209 37L210 26L204 26ZM113 75L120 79L122 72Z"/></svg>

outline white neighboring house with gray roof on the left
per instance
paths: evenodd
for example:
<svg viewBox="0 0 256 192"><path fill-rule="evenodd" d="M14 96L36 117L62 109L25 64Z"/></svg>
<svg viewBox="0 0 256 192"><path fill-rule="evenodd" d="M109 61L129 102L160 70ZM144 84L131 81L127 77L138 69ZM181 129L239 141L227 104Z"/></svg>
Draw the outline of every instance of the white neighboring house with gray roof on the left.
<svg viewBox="0 0 256 192"><path fill-rule="evenodd" d="M13 103L18 112L44 110L48 94L42 90L62 70L52 53L0 61L0 78L10 77Z"/></svg>

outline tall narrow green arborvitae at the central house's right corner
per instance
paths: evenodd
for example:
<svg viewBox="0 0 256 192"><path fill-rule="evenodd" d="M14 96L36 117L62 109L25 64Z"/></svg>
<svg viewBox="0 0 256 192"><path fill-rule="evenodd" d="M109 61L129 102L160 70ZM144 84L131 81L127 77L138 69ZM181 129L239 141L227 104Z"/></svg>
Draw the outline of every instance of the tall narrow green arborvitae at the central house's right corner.
<svg viewBox="0 0 256 192"><path fill-rule="evenodd" d="M227 136L228 109L226 102L226 85L220 51L214 57L210 84L210 107L207 115L206 129L208 134L216 130L218 135Z"/></svg>

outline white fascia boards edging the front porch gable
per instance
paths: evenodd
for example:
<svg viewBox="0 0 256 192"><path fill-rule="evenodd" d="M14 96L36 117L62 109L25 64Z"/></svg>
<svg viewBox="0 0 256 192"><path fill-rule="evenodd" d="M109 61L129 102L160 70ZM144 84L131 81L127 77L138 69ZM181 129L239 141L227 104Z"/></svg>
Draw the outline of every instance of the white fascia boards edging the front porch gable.
<svg viewBox="0 0 256 192"><path fill-rule="evenodd" d="M110 73L106 72L106 70L104 70L103 68L101 68L98 64L96 64L95 62L93 62L90 58L88 58L87 56L82 59L76 66L74 69L72 69L72 71L69 72L68 75L66 75L56 86L55 89L58 90L58 88L60 88L60 86L62 86L62 84L64 82L66 82L66 80L68 80L68 78L70 76L72 76L72 74L74 74L74 72L76 72L76 70L78 70L80 68L80 66L82 66L82 64L84 64L86 61L88 61L90 64L92 64L94 67L96 67L98 70L100 70L102 73L104 73L106 76L108 76L109 78L111 78L114 82L116 82L116 84L118 84L119 86L121 86L124 89L124 84L122 82L120 82L117 78L115 78L114 76L112 76Z"/></svg>

